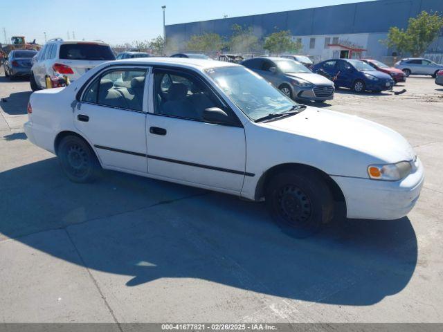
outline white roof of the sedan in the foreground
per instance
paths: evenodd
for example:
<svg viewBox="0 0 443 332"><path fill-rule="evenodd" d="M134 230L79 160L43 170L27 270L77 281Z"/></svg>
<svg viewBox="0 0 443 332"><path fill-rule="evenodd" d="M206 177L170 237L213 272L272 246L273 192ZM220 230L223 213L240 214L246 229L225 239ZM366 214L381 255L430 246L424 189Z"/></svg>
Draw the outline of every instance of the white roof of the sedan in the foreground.
<svg viewBox="0 0 443 332"><path fill-rule="evenodd" d="M170 65L195 68L198 70L215 67L239 66L232 62L214 61L206 59L194 59L189 57L136 57L113 61L112 64L146 64L146 65Z"/></svg>

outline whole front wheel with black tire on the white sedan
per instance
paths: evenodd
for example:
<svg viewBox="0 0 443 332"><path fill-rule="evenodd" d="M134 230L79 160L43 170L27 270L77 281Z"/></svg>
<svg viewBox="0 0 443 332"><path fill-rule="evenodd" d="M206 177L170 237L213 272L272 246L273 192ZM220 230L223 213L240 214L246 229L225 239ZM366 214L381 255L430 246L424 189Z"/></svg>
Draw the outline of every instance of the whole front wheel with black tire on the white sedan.
<svg viewBox="0 0 443 332"><path fill-rule="evenodd" d="M329 188L309 169L288 169L270 178L266 205L280 228L297 238L315 234L334 216Z"/></svg>

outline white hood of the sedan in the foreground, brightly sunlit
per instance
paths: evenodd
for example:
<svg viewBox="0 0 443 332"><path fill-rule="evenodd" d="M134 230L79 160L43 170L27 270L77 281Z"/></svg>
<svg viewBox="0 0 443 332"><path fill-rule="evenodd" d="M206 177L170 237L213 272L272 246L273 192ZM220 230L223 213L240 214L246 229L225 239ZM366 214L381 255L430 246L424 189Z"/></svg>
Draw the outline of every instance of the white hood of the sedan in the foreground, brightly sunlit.
<svg viewBox="0 0 443 332"><path fill-rule="evenodd" d="M307 107L295 116L266 122L266 125L352 149L356 155L370 156L375 163L397 163L415 158L413 148L397 131L358 116Z"/></svg>

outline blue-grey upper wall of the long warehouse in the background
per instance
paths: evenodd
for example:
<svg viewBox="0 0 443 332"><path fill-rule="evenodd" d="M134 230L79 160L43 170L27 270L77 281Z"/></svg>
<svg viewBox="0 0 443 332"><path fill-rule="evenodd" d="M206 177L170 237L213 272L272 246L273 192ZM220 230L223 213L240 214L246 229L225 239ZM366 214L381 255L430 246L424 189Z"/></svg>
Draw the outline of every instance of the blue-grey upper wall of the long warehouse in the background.
<svg viewBox="0 0 443 332"><path fill-rule="evenodd" d="M178 45L202 33L229 37L233 24L252 26L259 37L275 30L291 30L292 35L386 33L391 26L406 28L409 17L422 10L443 12L443 0L379 0L174 24L166 26L166 36Z"/></svg>

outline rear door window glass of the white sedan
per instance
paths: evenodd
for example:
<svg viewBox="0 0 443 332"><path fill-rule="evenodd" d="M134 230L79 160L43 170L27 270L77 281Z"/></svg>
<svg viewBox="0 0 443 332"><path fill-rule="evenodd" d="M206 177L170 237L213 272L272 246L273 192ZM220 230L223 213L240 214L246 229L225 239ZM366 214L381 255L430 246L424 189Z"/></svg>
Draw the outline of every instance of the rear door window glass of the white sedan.
<svg viewBox="0 0 443 332"><path fill-rule="evenodd" d="M120 109L143 111L146 70L108 71L84 92L83 101Z"/></svg>

